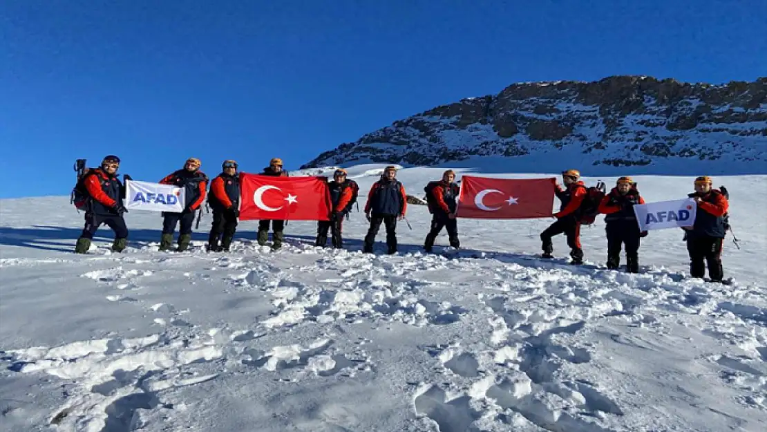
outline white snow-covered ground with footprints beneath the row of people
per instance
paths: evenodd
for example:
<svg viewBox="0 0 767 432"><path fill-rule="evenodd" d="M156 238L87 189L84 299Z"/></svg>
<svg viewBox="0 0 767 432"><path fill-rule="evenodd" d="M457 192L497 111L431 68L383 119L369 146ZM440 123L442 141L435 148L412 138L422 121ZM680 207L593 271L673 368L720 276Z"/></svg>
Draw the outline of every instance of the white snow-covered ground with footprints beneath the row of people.
<svg viewBox="0 0 767 432"><path fill-rule="evenodd" d="M381 167L350 174L367 191ZM399 177L423 196L442 170ZM693 178L637 181L654 201ZM731 286L685 279L680 230L650 232L639 275L608 271L601 218L582 266L535 258L551 219L461 219L465 249L425 255L423 206L396 256L384 232L360 253L362 213L347 251L291 222L268 252L244 222L231 253L207 254L206 215L192 252L161 253L160 216L140 212L126 252L104 228L75 256L68 197L0 200L0 430L762 432L767 176L715 182L740 239Z"/></svg>

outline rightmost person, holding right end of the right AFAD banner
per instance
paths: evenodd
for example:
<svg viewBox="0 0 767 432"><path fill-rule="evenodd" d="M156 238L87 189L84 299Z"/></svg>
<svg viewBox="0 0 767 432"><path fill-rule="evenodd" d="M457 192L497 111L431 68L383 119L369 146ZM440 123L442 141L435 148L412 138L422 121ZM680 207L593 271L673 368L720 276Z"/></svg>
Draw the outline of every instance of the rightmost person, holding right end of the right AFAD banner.
<svg viewBox="0 0 767 432"><path fill-rule="evenodd" d="M687 230L687 252L690 254L690 276L703 278L708 263L711 282L723 282L722 247L727 232L725 217L729 202L719 190L712 188L711 177L695 179L695 193L690 193L698 205L695 223Z"/></svg>

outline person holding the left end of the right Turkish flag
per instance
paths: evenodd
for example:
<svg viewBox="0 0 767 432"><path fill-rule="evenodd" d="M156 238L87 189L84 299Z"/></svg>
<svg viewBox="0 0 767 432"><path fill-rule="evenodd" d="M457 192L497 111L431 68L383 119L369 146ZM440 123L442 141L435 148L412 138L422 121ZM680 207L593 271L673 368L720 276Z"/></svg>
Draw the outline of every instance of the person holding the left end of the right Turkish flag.
<svg viewBox="0 0 767 432"><path fill-rule="evenodd" d="M442 175L442 180L429 183L426 186L426 201L429 204L429 211L432 213L431 230L426 234L426 239L423 242L423 249L426 252L432 251L436 236L443 228L447 229L450 246L456 249L460 246L458 221L456 219L459 187L454 180L456 180L456 173L453 170L446 170Z"/></svg>

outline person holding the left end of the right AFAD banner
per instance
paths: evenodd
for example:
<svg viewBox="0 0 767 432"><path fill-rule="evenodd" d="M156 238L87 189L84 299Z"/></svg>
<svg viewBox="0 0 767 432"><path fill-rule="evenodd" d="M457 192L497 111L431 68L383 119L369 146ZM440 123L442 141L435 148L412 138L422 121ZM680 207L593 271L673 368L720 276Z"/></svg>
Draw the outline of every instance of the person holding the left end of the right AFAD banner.
<svg viewBox="0 0 767 432"><path fill-rule="evenodd" d="M647 236L647 231L639 231L634 206L644 204L644 198L637 190L637 183L631 177L621 177L615 187L602 198L599 213L604 217L607 232L607 269L617 269L621 264L621 249L626 245L626 270L639 272L640 238Z"/></svg>

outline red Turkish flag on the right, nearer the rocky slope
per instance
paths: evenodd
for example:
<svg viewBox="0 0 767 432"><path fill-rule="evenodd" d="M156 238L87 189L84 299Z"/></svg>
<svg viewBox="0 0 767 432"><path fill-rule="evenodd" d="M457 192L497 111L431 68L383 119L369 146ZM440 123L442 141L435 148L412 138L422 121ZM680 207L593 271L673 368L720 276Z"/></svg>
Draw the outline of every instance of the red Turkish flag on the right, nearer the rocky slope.
<svg viewBox="0 0 767 432"><path fill-rule="evenodd" d="M551 217L557 180L463 176L457 217L532 219Z"/></svg>

